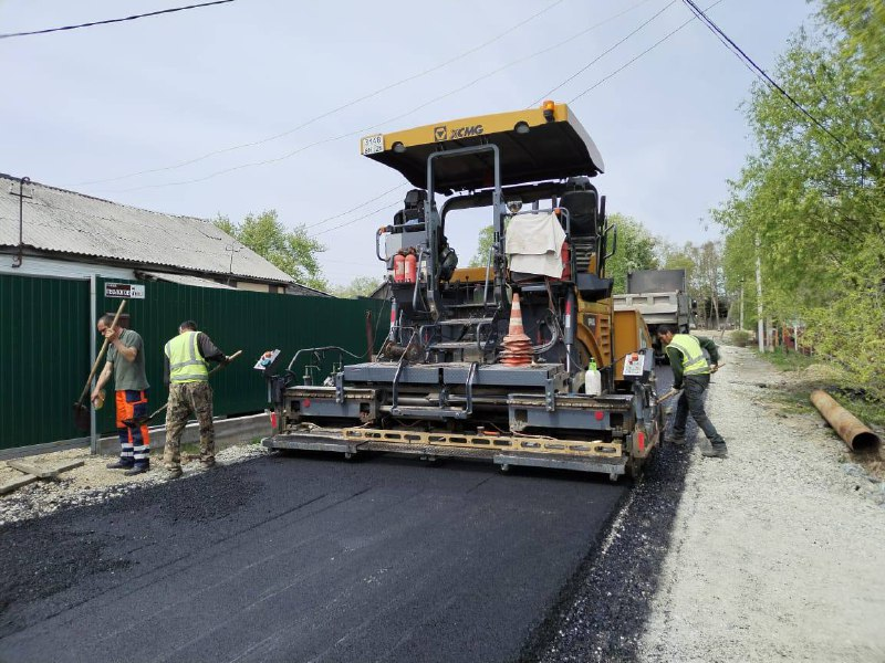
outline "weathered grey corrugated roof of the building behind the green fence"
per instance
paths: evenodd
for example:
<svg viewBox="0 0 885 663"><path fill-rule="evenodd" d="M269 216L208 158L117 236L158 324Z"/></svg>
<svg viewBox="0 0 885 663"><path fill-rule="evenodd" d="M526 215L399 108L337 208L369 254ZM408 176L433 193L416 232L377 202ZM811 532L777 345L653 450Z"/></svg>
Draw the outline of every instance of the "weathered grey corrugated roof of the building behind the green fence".
<svg viewBox="0 0 885 663"><path fill-rule="evenodd" d="M14 194L18 191L19 178L0 173L0 245L19 243L19 197ZM189 272L294 283L289 274L208 221L142 210L38 182L25 185L25 192L32 196L23 204L23 236L28 246Z"/></svg>

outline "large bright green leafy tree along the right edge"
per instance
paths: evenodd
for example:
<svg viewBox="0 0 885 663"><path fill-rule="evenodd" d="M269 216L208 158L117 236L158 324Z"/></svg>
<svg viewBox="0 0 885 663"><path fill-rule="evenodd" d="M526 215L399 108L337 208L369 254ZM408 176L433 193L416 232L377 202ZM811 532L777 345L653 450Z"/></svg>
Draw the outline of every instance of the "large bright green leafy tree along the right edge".
<svg viewBox="0 0 885 663"><path fill-rule="evenodd" d="M757 149L716 218L729 271L749 280L759 255L764 316L803 319L819 351L885 399L885 7L819 8L819 29L800 32L773 71L816 122L756 85Z"/></svg>

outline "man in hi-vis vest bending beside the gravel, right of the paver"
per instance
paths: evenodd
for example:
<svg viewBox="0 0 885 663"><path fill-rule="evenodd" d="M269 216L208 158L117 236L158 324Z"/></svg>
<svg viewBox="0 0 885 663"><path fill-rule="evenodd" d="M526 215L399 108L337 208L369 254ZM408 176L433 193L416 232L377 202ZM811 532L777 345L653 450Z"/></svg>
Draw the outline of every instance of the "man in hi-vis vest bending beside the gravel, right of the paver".
<svg viewBox="0 0 885 663"><path fill-rule="evenodd" d="M660 325L657 328L657 337L667 349L667 357L673 368L673 388L684 389L676 403L670 441L674 444L685 444L685 425L690 412L698 428L710 441L710 448L704 449L701 453L708 457L727 457L726 441L716 432L704 410L704 392L710 386L710 373L719 368L719 350L716 344L709 338L676 334L676 329L670 325ZM704 350L709 354L712 368L707 362Z"/></svg>

